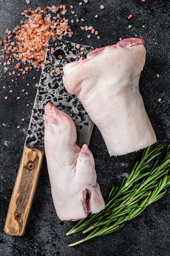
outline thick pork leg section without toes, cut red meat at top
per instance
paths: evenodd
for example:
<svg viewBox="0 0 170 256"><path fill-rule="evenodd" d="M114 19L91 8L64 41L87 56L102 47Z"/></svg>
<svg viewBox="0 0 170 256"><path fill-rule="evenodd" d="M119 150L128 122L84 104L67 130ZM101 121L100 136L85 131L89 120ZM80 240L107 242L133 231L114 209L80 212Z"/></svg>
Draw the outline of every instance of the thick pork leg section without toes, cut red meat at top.
<svg viewBox="0 0 170 256"><path fill-rule="evenodd" d="M139 92L144 43L139 38L123 39L63 68L66 90L82 102L110 155L124 155L156 142Z"/></svg>

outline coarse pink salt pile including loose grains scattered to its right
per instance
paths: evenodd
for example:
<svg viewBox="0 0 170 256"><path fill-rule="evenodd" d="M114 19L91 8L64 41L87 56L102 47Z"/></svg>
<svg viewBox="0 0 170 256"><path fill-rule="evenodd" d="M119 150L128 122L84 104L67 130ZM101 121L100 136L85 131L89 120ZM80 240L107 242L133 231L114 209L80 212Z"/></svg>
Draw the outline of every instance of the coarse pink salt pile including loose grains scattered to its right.
<svg viewBox="0 0 170 256"><path fill-rule="evenodd" d="M79 2L80 8L82 5L83 3ZM68 25L68 19L64 17L67 12L71 12L71 23L80 22L81 30L91 31L91 34L100 39L98 31L91 25L83 26L82 22L85 20L83 18L79 20L73 9L73 5L67 10L66 5L61 4L57 7L53 5L44 9L38 7L35 10L31 8L24 10L21 15L26 20L20 20L21 25L15 27L13 31L6 29L7 35L3 37L3 41L0 41L0 47L3 47L3 49L0 49L2 52L0 54L0 65L4 66L4 74L9 72L10 76L16 74L20 76L20 74L27 73L33 67L42 69L49 38L55 40L55 38L62 39L66 34L68 37L73 35L73 31ZM98 15L95 16L95 18L97 17ZM87 37L90 38L91 34L88 34ZM14 61L17 61L15 71L11 71ZM23 64L26 66L24 67Z"/></svg>

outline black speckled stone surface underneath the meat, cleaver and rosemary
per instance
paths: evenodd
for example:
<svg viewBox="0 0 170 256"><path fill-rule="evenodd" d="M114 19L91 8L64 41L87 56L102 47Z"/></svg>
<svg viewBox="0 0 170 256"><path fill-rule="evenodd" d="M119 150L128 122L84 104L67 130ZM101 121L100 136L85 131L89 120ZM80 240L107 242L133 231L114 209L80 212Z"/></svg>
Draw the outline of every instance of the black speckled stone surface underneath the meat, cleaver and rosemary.
<svg viewBox="0 0 170 256"><path fill-rule="evenodd" d="M170 143L170 2L169 0L88 0L87 3L65 0L0 0L0 40L5 30L20 25L24 9L44 8L66 4L68 18L74 32L71 38L63 39L83 45L102 47L117 43L119 38L141 37L146 41L146 64L141 73L140 91L157 139L165 147ZM101 10L100 5L105 9ZM74 6L79 22L73 24ZM128 20L128 16L133 18ZM98 18L95 15L98 14ZM83 18L85 21L81 21ZM100 39L79 27L92 25L99 31ZM131 25L131 28L128 27ZM2 38L2 39L1 39ZM1 47L2 48L2 47ZM11 70L15 70L12 64ZM137 218L112 234L97 237L75 247L68 244L84 238L77 233L66 236L74 223L61 222L55 213L51 198L49 177L44 159L38 187L33 200L26 232L22 237L4 233L4 222L15 184L26 130L39 82L41 70L33 68L28 74L12 76L3 73L0 66L0 254L3 256L168 256L170 255L170 188L161 200L151 204ZM159 78L157 77L159 74ZM23 78L24 77L24 78ZM14 77L15 79L15 77ZM16 82L16 83L15 83ZM29 83L29 85L27 85ZM5 88L3 88L5 86ZM10 94L9 90L13 90ZM25 96L21 92L25 89ZM8 100L4 97L8 96ZM20 96L20 100L16 97ZM159 100L161 99L161 100ZM25 122L21 119L25 118ZM20 125L18 129L17 126ZM106 124L107 125L107 124ZM130 173L141 150L121 157L110 157L103 139L95 127L90 149L95 158L97 180L104 198L113 184L121 184Z"/></svg>

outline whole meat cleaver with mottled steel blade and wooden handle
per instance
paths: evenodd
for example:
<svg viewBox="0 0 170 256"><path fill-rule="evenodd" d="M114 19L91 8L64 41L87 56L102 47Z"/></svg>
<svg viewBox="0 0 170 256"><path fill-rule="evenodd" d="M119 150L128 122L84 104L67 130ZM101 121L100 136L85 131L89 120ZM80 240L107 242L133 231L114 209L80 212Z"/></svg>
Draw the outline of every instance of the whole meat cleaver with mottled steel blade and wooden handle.
<svg viewBox="0 0 170 256"><path fill-rule="evenodd" d="M85 57L93 47L50 38L22 159L13 188L5 233L22 236L25 232L44 156L44 107L51 102L72 117L77 128L77 144L89 144L93 122L75 95L68 94L62 83L62 67Z"/></svg>

